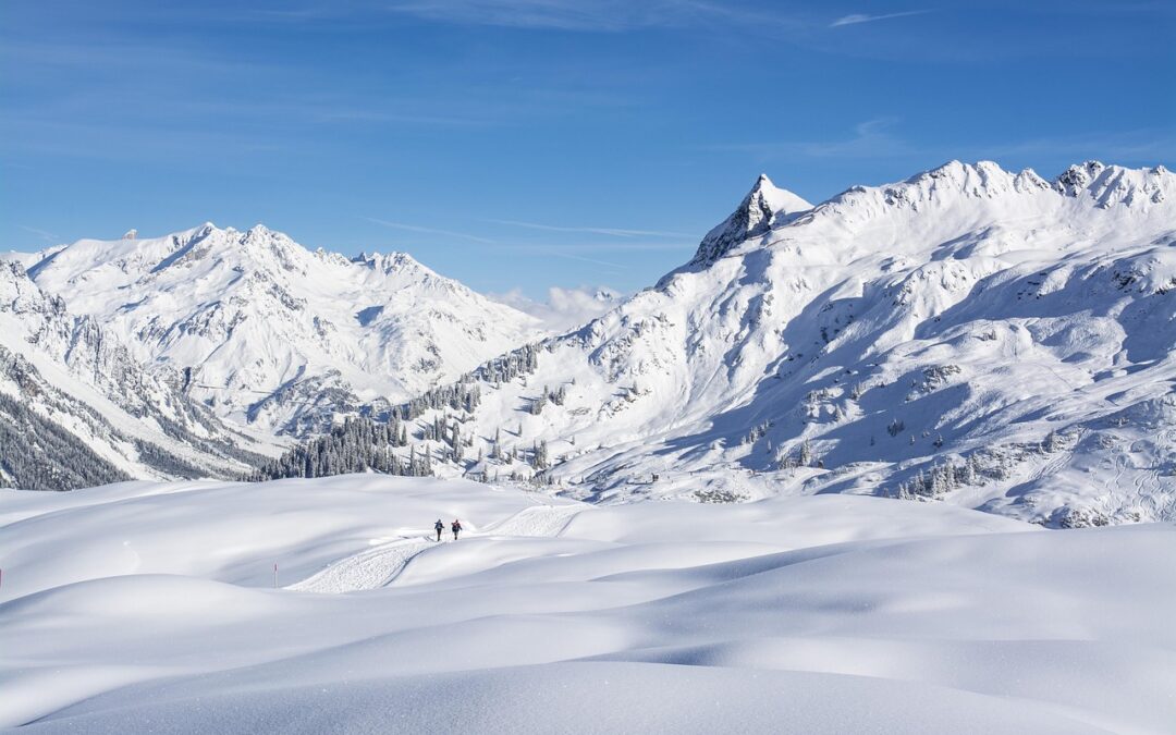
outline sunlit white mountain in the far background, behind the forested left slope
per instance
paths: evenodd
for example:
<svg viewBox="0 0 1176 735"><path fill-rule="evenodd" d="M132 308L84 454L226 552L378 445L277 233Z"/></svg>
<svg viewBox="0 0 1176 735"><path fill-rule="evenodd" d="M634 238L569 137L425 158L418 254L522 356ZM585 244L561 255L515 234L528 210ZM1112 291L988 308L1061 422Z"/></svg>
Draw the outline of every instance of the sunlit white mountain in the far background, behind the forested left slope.
<svg viewBox="0 0 1176 735"><path fill-rule="evenodd" d="M260 225L81 240L28 272L222 417L278 433L379 412L539 334L403 253L310 252Z"/></svg>

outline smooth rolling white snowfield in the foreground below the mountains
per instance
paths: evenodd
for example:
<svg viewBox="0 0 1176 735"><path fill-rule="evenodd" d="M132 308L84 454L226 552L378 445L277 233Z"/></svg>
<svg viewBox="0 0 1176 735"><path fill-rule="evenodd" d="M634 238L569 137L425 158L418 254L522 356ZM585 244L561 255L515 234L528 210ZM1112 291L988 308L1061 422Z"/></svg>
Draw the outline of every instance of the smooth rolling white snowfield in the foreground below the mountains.
<svg viewBox="0 0 1176 735"><path fill-rule="evenodd" d="M426 541L437 517L468 535ZM1176 722L1168 524L380 475L2 490L0 524L0 726L21 731Z"/></svg>

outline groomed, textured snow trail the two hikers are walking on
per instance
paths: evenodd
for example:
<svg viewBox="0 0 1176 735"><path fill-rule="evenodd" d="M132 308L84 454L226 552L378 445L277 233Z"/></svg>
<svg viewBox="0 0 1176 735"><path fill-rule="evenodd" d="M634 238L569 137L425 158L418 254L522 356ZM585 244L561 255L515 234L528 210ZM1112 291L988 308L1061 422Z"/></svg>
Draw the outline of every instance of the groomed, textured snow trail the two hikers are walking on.
<svg viewBox="0 0 1176 735"><path fill-rule="evenodd" d="M559 536L572 519L584 509L582 505L533 506L468 536ZM441 536L452 539L447 528ZM399 539L332 562L325 569L286 587L294 592L343 594L386 587L425 549L436 546L433 535ZM450 541L452 543L452 541Z"/></svg>

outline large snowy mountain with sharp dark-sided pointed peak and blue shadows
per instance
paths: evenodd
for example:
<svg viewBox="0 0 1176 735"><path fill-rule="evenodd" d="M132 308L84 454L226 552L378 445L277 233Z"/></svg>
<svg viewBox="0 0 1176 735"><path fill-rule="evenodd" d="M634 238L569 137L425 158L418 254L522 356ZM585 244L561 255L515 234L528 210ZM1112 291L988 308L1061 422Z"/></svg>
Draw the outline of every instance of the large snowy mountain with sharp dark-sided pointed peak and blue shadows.
<svg viewBox="0 0 1176 735"><path fill-rule="evenodd" d="M1056 526L1176 517L1174 349L1162 167L1047 181L950 162L815 207L761 178L656 287L522 374L482 370L472 414L419 422L455 425L441 435L463 437L465 472L528 472L517 456L597 500L851 492Z"/></svg>

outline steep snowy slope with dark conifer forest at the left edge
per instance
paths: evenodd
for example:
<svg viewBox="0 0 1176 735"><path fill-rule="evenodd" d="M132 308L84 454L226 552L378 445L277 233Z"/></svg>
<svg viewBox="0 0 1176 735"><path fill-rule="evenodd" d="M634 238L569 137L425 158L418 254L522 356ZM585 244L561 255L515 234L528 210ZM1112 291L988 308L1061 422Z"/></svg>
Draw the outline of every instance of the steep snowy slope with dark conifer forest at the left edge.
<svg viewBox="0 0 1176 735"><path fill-rule="evenodd" d="M0 486L236 476L272 449L149 374L96 320L0 262Z"/></svg>

